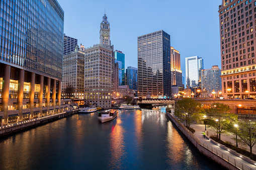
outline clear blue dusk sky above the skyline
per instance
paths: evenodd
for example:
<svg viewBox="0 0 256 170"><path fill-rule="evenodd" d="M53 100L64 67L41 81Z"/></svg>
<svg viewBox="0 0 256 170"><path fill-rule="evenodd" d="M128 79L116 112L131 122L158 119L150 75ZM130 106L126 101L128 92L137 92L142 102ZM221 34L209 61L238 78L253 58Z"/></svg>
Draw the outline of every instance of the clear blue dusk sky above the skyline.
<svg viewBox="0 0 256 170"><path fill-rule="evenodd" d="M58 3L64 10L64 33L86 48L100 43L100 24L106 9L111 44L125 54L125 68L137 68L137 37L159 30L170 35L170 45L180 52L183 76L186 57L202 57L204 69L213 65L221 68L218 14L221 0L58 0Z"/></svg>

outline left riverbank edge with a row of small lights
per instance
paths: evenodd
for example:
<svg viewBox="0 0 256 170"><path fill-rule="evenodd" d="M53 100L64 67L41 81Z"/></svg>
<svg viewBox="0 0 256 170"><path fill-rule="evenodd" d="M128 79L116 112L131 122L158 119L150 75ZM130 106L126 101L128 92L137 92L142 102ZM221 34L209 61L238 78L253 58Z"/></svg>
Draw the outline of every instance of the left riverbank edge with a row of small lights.
<svg viewBox="0 0 256 170"><path fill-rule="evenodd" d="M35 118L35 119L26 120L26 121L22 121L22 122L18 122L18 123L13 123L13 124L6 125L6 126L1 126L0 127L0 136L14 133L17 131L21 131L24 129L32 128L34 126L39 126L39 125L58 120L60 118L63 118L63 117L66 117L66 116L69 116L72 114L75 114L75 113L78 113L78 109L63 111L63 112L57 113L57 114L52 114L52 115L48 115L48 116L44 116L44 117L40 117L40 118Z"/></svg>

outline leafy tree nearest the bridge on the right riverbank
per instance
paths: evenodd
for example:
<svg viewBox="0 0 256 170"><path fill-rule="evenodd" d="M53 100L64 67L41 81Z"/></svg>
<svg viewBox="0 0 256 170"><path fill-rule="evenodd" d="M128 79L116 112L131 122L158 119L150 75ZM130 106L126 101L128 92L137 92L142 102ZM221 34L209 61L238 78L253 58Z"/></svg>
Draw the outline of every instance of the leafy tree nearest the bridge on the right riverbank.
<svg viewBox="0 0 256 170"><path fill-rule="evenodd" d="M183 98L177 101L175 115L186 122L186 126L190 129L190 125L201 116L201 103L192 98Z"/></svg>

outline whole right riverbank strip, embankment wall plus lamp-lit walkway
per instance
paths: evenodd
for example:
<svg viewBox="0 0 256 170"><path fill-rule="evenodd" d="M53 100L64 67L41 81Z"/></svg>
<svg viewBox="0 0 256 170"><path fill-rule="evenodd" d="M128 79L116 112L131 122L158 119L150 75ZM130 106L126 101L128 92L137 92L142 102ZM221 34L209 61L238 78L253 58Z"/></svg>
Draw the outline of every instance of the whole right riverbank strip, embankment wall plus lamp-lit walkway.
<svg viewBox="0 0 256 170"><path fill-rule="evenodd" d="M213 146L209 138L203 138L202 132L197 131L193 134L182 123L180 123L171 113L166 111L166 115L181 130L181 132L191 141L191 143L205 156L226 167L227 169L256 169L256 166L250 164L240 157L233 155L228 150ZM199 139L200 138L200 139Z"/></svg>

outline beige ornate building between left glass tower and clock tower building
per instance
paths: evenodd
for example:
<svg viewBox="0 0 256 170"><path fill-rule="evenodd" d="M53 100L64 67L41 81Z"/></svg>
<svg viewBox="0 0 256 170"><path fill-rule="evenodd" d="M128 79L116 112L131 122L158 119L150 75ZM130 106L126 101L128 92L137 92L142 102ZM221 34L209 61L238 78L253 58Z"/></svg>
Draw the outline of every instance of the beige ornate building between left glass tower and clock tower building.
<svg viewBox="0 0 256 170"><path fill-rule="evenodd" d="M73 88L71 94L65 90L68 86ZM84 52L79 50L78 45L70 54L63 56L62 69L62 97L83 99L84 90Z"/></svg>

